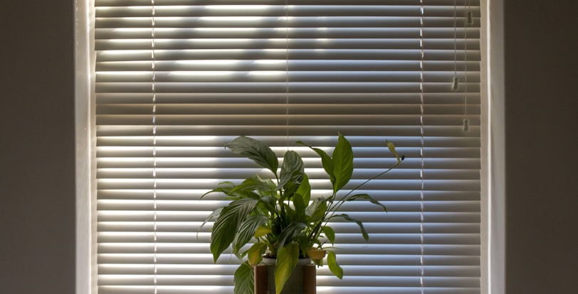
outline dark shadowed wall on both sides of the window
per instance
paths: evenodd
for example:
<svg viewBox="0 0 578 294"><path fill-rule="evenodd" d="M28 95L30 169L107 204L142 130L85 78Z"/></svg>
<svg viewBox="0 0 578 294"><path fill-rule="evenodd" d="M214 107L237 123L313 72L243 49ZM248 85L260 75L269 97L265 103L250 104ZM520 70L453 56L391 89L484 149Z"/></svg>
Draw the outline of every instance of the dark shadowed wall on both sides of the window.
<svg viewBox="0 0 578 294"><path fill-rule="evenodd" d="M0 293L73 294L74 1L4 2ZM503 2L506 290L574 293L578 2Z"/></svg>

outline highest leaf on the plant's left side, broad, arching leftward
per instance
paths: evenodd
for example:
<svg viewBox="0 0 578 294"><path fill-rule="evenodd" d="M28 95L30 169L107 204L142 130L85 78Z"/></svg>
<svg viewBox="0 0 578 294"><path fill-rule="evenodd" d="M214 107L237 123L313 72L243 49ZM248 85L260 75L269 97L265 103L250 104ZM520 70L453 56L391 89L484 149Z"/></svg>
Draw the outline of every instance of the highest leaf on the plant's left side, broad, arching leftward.
<svg viewBox="0 0 578 294"><path fill-rule="evenodd" d="M276 177L279 162L275 152L266 143L254 138L239 136L231 143L226 144L226 148L231 149L233 153L241 154L241 156L255 161L258 165L270 170Z"/></svg>

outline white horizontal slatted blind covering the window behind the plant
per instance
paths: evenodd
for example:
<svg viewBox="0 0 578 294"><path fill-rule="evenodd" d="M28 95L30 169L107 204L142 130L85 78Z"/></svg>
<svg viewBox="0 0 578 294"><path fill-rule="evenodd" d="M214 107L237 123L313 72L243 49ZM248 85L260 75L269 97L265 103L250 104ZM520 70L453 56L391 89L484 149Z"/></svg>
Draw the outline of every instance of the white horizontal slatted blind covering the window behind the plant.
<svg viewBox="0 0 578 294"><path fill-rule="evenodd" d="M329 151L337 132L351 187L394 163L386 139L406 159L362 188L389 212L342 207L369 242L332 224L345 276L318 268L317 292L480 293L479 6L95 0L98 293L233 293L238 261L214 264L198 232L226 202L200 197L263 171L224 144L303 152L321 197L320 160L294 142Z"/></svg>

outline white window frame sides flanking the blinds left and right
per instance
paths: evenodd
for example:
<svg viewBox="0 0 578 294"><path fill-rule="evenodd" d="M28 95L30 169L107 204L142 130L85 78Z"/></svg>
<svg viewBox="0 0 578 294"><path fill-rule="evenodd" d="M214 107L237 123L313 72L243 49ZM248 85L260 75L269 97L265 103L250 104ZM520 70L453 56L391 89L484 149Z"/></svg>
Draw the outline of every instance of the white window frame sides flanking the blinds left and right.
<svg viewBox="0 0 578 294"><path fill-rule="evenodd" d="M90 116L90 0L75 2L75 44L76 44L76 141L77 141L77 294L96 293L95 291L95 258L93 254L93 185L91 185L92 164L91 149L92 125ZM487 69L488 83L485 95L488 98L488 119L485 121L487 138L483 146L488 151L487 158L483 163L488 165L486 174L489 185L484 185L484 194L490 196L489 201L484 203L488 212L484 214L488 219L488 225L483 229L483 293L504 293L505 284L505 222L504 214L504 113L503 113L503 0L488 0L485 15L488 23L485 23L488 52L485 56L490 62L485 64ZM488 7L489 6L489 7Z"/></svg>

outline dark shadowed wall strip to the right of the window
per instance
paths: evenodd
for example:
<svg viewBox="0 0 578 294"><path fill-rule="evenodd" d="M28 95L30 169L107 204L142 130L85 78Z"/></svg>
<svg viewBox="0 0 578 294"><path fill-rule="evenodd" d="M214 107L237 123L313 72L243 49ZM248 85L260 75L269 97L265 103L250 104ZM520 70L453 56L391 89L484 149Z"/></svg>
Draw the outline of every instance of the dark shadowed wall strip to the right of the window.
<svg viewBox="0 0 578 294"><path fill-rule="evenodd" d="M577 1L504 0L506 289L577 293Z"/></svg>

